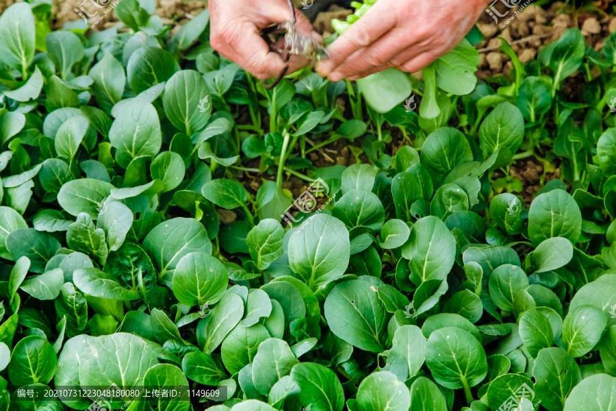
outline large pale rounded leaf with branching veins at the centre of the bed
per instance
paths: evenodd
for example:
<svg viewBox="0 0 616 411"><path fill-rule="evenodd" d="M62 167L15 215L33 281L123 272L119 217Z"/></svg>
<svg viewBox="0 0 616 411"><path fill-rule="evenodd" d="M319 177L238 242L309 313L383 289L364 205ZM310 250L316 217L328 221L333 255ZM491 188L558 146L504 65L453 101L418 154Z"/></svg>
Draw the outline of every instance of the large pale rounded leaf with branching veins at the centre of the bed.
<svg viewBox="0 0 616 411"><path fill-rule="evenodd" d="M289 240L289 264L311 290L342 277L350 259L350 241L344 223L318 214Z"/></svg>

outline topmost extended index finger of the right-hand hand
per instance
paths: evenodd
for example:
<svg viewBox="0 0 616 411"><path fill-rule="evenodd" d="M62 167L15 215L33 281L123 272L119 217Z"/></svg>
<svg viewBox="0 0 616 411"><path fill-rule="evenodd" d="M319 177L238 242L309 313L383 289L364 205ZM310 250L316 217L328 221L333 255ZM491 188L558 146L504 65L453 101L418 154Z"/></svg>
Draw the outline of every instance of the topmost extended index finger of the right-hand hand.
<svg viewBox="0 0 616 411"><path fill-rule="evenodd" d="M319 65L320 75L332 73L352 53L371 45L394 27L396 20L392 18L391 10L387 10L385 4L377 2L328 47L331 58Z"/></svg>

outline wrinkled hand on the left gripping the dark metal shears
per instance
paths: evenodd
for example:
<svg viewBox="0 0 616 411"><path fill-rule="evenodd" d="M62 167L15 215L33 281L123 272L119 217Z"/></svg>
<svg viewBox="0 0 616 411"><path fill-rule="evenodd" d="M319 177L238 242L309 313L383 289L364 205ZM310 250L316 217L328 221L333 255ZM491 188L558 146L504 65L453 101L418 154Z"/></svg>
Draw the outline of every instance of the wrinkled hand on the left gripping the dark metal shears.
<svg viewBox="0 0 616 411"><path fill-rule="evenodd" d="M270 52L260 31L291 18L287 0L210 0L208 6L211 47L259 79L277 77L281 73L285 63L280 55ZM310 22L298 10L296 18L298 34L321 41L320 36L312 31ZM307 64L305 58L292 55L287 73L293 73Z"/></svg>

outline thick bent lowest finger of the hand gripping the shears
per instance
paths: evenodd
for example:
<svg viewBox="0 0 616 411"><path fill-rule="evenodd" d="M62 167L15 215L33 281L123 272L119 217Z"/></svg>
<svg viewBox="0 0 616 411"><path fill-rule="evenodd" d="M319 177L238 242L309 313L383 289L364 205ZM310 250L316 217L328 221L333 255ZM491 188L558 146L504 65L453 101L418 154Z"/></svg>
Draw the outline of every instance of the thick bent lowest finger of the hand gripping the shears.
<svg viewBox="0 0 616 411"><path fill-rule="evenodd" d="M271 53L259 29L247 21L231 21L210 36L210 43L225 58L259 79L277 77L285 66L280 55Z"/></svg>

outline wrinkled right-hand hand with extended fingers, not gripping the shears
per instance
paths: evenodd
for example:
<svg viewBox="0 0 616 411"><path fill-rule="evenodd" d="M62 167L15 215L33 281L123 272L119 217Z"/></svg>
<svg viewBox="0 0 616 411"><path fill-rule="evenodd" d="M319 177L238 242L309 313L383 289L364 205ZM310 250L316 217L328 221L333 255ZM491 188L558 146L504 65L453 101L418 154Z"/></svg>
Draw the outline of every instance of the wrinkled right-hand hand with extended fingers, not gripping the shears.
<svg viewBox="0 0 616 411"><path fill-rule="evenodd" d="M390 67L414 73L453 49L485 9L485 0L378 0L328 47L317 70L333 82Z"/></svg>

